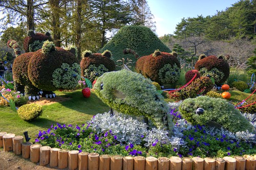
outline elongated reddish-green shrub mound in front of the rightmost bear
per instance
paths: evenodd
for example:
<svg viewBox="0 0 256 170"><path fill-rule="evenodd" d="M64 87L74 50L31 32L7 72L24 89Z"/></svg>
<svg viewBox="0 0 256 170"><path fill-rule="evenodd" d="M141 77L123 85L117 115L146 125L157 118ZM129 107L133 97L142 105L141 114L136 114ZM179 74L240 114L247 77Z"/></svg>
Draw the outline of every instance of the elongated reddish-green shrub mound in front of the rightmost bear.
<svg viewBox="0 0 256 170"><path fill-rule="evenodd" d="M214 84L208 77L200 77L195 79L185 88L182 88L180 91L175 91L169 93L168 96L170 99L174 100L184 100L187 98L196 98L200 94L206 94L214 87Z"/></svg>

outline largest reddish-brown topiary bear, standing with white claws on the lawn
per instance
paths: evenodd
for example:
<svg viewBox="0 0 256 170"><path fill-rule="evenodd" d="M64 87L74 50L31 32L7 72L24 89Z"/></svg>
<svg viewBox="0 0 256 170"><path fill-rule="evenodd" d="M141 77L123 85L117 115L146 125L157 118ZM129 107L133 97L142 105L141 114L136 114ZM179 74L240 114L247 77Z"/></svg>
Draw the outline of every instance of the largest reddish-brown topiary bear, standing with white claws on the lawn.
<svg viewBox="0 0 256 170"><path fill-rule="evenodd" d="M15 90L39 99L38 91L43 96L55 97L57 89L73 89L80 80L80 66L74 54L53 42L45 41L36 52L24 53L13 62Z"/></svg>

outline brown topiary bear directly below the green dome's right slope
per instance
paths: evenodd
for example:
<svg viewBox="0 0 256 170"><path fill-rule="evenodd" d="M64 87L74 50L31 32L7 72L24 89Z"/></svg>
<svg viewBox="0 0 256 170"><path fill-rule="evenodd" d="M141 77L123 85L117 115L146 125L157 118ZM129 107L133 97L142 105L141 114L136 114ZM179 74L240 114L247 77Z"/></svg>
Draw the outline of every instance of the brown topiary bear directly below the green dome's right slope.
<svg viewBox="0 0 256 170"><path fill-rule="evenodd" d="M177 53L166 53L156 50L149 56L143 56L136 62L136 71L145 78L160 85L174 85L180 78L180 62Z"/></svg>

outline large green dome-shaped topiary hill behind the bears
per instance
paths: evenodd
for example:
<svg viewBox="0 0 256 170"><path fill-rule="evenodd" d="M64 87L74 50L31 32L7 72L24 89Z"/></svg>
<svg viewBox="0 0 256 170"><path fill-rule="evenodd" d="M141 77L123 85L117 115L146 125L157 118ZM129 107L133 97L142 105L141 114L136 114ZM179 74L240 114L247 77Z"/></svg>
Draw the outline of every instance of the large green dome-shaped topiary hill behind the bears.
<svg viewBox="0 0 256 170"><path fill-rule="evenodd" d="M171 52L149 28L144 26L125 26L99 50L99 53L110 50L115 62L127 57L136 62L137 58L133 54L123 54L123 50L126 48L135 51L139 56L150 55L156 49L163 52Z"/></svg>

